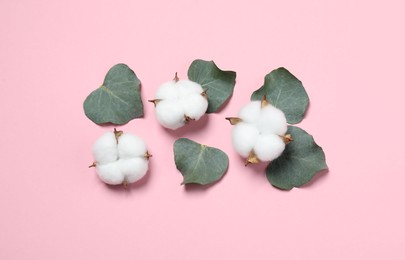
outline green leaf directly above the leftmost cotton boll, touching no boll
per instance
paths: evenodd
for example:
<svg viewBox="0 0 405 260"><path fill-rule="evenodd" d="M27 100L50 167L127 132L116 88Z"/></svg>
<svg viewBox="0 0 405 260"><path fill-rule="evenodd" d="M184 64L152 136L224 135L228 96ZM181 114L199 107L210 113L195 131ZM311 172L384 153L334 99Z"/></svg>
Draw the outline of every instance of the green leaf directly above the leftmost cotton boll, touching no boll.
<svg viewBox="0 0 405 260"><path fill-rule="evenodd" d="M143 116L141 82L125 64L113 66L103 85L84 101L84 113L96 124L126 124Z"/></svg>

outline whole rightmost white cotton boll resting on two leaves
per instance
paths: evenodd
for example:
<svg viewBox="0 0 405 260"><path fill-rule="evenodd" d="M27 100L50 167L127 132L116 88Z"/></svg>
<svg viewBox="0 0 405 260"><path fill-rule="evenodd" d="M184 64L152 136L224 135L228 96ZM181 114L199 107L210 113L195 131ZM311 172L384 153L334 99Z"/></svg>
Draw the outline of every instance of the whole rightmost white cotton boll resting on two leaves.
<svg viewBox="0 0 405 260"><path fill-rule="evenodd" d="M292 141L286 135L284 113L272 106L263 96L262 101L251 101L239 112L239 117L226 118L235 127L232 142L235 150L249 163L272 161L279 157L286 144Z"/></svg>

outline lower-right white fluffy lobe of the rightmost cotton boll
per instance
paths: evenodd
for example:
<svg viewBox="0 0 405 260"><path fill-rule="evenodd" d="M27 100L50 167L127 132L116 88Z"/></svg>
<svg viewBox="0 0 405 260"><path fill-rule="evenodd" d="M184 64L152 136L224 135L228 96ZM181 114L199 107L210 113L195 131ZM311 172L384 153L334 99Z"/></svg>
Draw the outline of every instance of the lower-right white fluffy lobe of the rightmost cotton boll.
<svg viewBox="0 0 405 260"><path fill-rule="evenodd" d="M260 135L254 146L254 153L260 161L272 161L279 157L285 148L285 143L278 135Z"/></svg>

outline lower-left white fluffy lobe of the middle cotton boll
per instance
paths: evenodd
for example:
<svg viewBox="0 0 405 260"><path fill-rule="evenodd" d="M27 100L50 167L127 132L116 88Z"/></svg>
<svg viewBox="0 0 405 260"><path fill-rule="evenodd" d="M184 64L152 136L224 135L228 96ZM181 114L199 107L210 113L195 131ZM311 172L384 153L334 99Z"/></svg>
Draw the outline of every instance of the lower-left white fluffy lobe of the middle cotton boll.
<svg viewBox="0 0 405 260"><path fill-rule="evenodd" d="M183 106L180 102L174 100L158 102L156 104L156 117L162 126L172 130L185 124Z"/></svg>

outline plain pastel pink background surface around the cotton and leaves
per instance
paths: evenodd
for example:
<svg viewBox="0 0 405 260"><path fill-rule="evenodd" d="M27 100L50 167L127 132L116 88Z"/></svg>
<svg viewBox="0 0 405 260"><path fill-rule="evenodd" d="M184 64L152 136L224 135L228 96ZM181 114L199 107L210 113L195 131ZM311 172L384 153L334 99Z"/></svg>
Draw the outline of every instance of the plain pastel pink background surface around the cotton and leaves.
<svg viewBox="0 0 405 260"><path fill-rule="evenodd" d="M405 259L403 1L0 2L0 259ZM197 58L238 73L220 113L169 132L153 98ZM111 127L82 103L108 69L143 83L148 177L98 180L93 142ZM304 83L299 124L329 172L290 192L232 149L236 115L272 69ZM178 137L230 159L209 188L180 186Z"/></svg>

